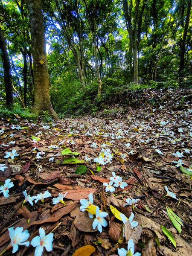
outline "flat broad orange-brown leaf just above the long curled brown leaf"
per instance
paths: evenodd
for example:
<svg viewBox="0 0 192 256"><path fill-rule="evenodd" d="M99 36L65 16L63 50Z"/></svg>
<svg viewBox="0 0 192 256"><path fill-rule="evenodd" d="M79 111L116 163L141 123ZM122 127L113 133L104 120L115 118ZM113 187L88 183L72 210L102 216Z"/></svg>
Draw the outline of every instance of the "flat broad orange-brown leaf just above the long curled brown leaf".
<svg viewBox="0 0 192 256"><path fill-rule="evenodd" d="M88 195L90 193L95 193L96 189L92 189L92 188L70 189L70 190L65 190L65 192L67 192L67 195L65 196L65 198L72 199L72 200L80 200L83 198L88 198Z"/></svg>

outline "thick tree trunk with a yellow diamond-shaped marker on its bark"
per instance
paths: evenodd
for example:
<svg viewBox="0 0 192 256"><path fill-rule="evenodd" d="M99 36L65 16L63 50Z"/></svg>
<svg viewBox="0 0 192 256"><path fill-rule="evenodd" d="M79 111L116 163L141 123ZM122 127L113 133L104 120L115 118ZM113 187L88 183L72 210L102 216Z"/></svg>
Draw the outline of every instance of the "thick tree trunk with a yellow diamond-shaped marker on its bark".
<svg viewBox="0 0 192 256"><path fill-rule="evenodd" d="M46 43L42 14L42 0L27 0L32 39L34 103L32 113L49 111L53 117L57 114L52 108L49 96L49 73L47 68Z"/></svg>

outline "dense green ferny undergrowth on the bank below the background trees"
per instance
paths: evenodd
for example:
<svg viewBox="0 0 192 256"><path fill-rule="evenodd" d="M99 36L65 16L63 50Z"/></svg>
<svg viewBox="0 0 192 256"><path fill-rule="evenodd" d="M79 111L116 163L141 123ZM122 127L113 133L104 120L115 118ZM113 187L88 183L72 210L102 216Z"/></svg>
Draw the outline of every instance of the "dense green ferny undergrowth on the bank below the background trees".
<svg viewBox="0 0 192 256"><path fill-rule="evenodd" d="M73 95L64 97L61 102L57 102L58 106L55 106L55 110L60 117L63 116L81 116L85 113L91 113L93 116L100 110L105 112L111 111L112 105L130 106L134 102L135 93L142 94L142 91L148 88L159 90L162 88L178 87L178 82L172 79L165 81L166 77L162 78L162 81L143 81L143 84L126 83L121 79L108 78L102 80L102 95L97 97L98 83L92 81L85 89L81 89L80 92L74 91ZM140 99L141 100L141 99ZM134 107L139 107L140 100L137 103L134 102ZM154 100L151 101L151 105L155 105Z"/></svg>

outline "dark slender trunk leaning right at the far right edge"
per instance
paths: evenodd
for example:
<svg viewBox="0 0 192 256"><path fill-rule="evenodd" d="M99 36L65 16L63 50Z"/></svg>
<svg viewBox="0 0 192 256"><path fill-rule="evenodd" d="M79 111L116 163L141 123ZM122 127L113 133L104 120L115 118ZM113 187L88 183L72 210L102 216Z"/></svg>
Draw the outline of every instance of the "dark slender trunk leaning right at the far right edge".
<svg viewBox="0 0 192 256"><path fill-rule="evenodd" d="M191 12L191 0L188 0L185 27L184 27L184 32L183 32L183 40L182 40L181 46L180 46L180 63L179 63L180 82L183 81L183 75L184 75L183 70L184 70L184 67L185 67L186 37L187 37L187 31L188 31L188 27L189 27L190 12Z"/></svg>

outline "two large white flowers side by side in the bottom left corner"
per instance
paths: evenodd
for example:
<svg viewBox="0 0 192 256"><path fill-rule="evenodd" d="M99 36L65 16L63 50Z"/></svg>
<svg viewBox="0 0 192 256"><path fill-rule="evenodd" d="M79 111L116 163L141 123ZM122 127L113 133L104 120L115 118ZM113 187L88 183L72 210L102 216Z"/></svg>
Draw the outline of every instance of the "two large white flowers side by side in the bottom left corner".
<svg viewBox="0 0 192 256"><path fill-rule="evenodd" d="M15 253L19 249L19 245L29 246L30 242L26 241L30 236L28 230L23 231L23 227L16 227L15 230L14 227L10 227L8 230L11 239L10 247L13 247L12 253ZM49 233L46 236L45 230L40 227L39 236L35 236L31 241L31 245L36 247L35 256L41 256L44 251L44 247L48 252L52 250L53 235L53 233ZM8 246L6 250L10 249L10 247Z"/></svg>

